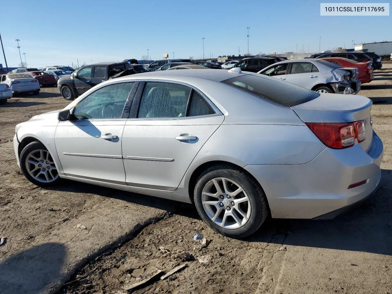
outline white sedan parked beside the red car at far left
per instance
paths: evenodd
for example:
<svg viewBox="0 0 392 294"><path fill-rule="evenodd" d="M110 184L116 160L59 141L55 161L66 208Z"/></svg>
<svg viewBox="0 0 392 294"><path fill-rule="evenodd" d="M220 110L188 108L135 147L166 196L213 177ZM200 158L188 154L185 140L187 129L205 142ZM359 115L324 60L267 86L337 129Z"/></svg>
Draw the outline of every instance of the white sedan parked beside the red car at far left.
<svg viewBox="0 0 392 294"><path fill-rule="evenodd" d="M3 74L0 82L9 85L12 94L22 92L33 92L35 95L40 93L40 83L27 73Z"/></svg>

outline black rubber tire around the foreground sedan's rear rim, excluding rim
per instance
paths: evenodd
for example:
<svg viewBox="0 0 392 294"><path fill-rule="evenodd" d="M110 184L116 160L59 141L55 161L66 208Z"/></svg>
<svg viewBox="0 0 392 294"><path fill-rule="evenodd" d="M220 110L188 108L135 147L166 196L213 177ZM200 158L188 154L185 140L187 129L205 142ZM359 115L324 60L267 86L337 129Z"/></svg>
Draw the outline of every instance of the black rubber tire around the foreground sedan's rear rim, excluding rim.
<svg viewBox="0 0 392 294"><path fill-rule="evenodd" d="M201 192L203 191L203 187L214 178L228 178L230 180L233 180L236 183L240 184L244 191L247 193L250 200L251 212L248 222L243 227L240 227L238 229L222 228L216 223L214 223L204 211L201 200ZM254 183L250 182L249 177L247 177L243 172L240 172L235 169L217 169L202 174L197 181L194 190L194 201L196 209L198 210L201 218L212 229L216 230L224 236L232 238L243 238L249 236L261 226L261 224L264 222L265 218L268 215L268 209L267 207L265 207L265 199L266 198L261 190L261 187L259 187L258 189L258 187L256 187Z"/></svg>

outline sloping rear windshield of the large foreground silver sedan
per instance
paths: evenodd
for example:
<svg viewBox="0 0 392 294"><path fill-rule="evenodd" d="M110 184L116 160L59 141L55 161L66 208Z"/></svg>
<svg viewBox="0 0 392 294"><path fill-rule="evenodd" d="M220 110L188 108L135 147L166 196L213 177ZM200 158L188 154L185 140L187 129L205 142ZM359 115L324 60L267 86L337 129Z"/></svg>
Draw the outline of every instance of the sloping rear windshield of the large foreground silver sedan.
<svg viewBox="0 0 392 294"><path fill-rule="evenodd" d="M222 82L287 107L302 104L320 96L316 92L292 83L261 75L244 74Z"/></svg>

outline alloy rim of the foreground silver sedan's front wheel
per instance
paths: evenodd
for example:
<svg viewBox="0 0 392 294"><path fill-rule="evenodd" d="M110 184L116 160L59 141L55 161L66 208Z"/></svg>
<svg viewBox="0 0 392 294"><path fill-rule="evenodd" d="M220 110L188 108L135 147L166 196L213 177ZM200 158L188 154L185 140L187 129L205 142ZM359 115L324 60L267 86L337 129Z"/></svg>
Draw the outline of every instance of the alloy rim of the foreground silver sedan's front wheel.
<svg viewBox="0 0 392 294"><path fill-rule="evenodd" d="M30 152L25 165L29 175L42 183L51 183L58 178L56 165L47 150L38 149Z"/></svg>

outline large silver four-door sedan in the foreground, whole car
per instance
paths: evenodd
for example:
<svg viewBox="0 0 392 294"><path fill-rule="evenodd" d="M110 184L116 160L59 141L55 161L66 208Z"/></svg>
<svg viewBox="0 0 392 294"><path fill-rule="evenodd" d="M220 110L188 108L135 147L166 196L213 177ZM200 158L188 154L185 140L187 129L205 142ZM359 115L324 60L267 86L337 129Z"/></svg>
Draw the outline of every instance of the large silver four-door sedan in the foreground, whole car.
<svg viewBox="0 0 392 294"><path fill-rule="evenodd" d="M371 100L240 71L100 83L16 125L18 165L43 187L64 178L194 203L212 229L234 238L269 214L331 218L376 189L383 143Z"/></svg>

